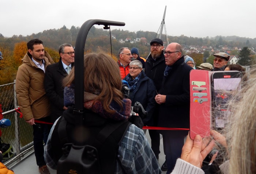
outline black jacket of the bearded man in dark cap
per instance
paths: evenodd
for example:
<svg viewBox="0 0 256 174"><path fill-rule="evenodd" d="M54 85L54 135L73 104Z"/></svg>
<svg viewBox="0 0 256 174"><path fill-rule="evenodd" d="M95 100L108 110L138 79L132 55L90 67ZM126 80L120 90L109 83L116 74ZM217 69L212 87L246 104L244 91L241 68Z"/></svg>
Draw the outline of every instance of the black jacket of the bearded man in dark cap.
<svg viewBox="0 0 256 174"><path fill-rule="evenodd" d="M157 91L159 91L159 89L161 88L165 67L165 55L163 54L163 51L161 55L155 60L150 54L147 58L147 61L145 62L145 73L147 77L153 80Z"/></svg>

